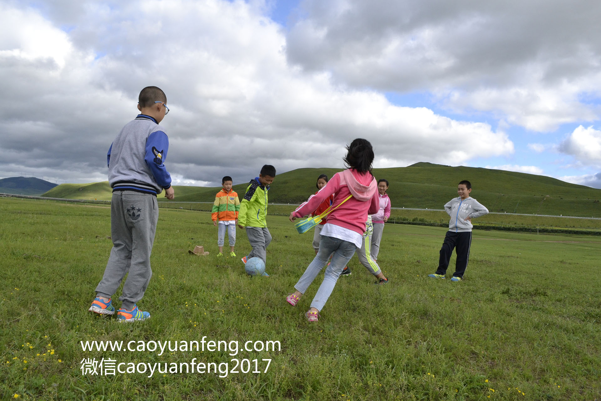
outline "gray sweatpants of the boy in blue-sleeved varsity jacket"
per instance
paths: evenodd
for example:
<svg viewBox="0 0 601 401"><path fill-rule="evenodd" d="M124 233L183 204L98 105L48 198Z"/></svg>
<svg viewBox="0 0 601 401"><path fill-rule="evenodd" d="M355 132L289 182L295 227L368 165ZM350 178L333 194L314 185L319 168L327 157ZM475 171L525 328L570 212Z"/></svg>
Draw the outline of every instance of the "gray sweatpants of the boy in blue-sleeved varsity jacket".
<svg viewBox="0 0 601 401"><path fill-rule="evenodd" d="M135 191L116 191L111 199L111 237L113 247L97 296L111 298L127 274L119 299L131 310L142 299L152 270L150 253L159 219L154 195ZM128 274L129 272L129 274Z"/></svg>

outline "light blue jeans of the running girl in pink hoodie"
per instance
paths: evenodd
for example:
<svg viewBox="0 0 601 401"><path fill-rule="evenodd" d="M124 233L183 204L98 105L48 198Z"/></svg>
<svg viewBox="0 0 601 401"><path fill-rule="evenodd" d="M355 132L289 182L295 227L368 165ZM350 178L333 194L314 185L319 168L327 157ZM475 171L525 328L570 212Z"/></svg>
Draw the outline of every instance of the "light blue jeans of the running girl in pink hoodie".
<svg viewBox="0 0 601 401"><path fill-rule="evenodd" d="M340 277L344 266L353 257L356 250L357 247L352 242L322 235L322 240L319 243L319 252L317 252L313 262L310 263L307 270L305 270L299 281L294 285L295 289L304 294L319 272L322 271L323 266L328 263L332 252L334 253L323 275L322 285L319 286L313 301L311 301L311 308L316 308L319 311L322 310L323 305L326 304L326 301L328 301L330 294L334 290L336 281L338 281L338 277Z"/></svg>

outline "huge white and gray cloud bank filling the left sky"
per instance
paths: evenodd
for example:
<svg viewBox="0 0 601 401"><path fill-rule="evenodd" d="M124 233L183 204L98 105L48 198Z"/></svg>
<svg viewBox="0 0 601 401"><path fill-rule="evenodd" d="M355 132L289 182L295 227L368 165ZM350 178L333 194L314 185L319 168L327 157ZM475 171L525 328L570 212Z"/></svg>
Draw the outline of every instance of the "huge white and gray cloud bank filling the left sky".
<svg viewBox="0 0 601 401"><path fill-rule="evenodd" d="M21 19L0 47L0 70L11 77L0 99L0 175L37 168L59 180L104 177L106 150L146 85L167 95L166 165L180 183L246 182L263 164L342 167L344 145L357 137L373 143L378 167L514 152L487 123L394 106L377 91L290 66L284 32L261 2L80 2L68 15L44 4L49 19L8 5L0 14L0 26L5 15ZM1 52L26 48L29 20L59 41L62 67L44 54Z"/></svg>

